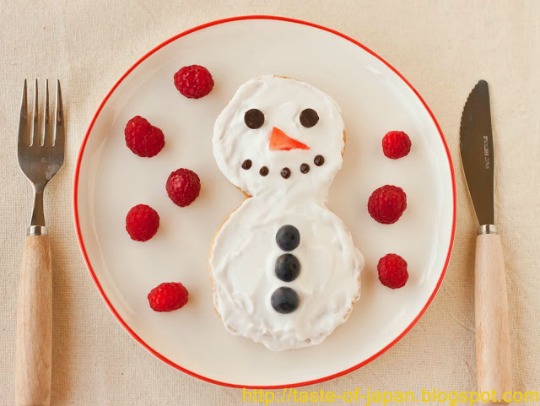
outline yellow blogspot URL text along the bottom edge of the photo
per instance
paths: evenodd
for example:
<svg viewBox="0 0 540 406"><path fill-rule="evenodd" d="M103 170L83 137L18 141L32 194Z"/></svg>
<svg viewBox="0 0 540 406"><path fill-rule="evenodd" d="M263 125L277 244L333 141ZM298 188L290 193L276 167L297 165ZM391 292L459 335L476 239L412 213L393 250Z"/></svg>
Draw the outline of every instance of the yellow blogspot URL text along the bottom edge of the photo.
<svg viewBox="0 0 540 406"><path fill-rule="evenodd" d="M279 403L298 404L331 404L355 403L364 406L394 405L394 404L441 404L448 406L475 405L487 402L533 403L540 402L538 391L504 392L495 391L440 391L437 389L422 389L418 394L412 391L378 391L355 388L351 391L301 390L283 388L281 390L242 389L242 403L272 405Z"/></svg>

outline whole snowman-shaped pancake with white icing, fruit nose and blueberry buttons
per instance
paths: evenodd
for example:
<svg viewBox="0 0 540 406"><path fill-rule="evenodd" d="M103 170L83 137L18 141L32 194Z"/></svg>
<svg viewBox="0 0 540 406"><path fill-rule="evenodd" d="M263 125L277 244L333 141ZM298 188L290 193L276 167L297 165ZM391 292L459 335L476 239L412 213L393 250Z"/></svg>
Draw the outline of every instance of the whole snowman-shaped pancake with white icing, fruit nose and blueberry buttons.
<svg viewBox="0 0 540 406"><path fill-rule="evenodd" d="M344 144L336 102L294 79L248 81L217 118L216 162L250 196L210 255L229 332L279 351L319 344L349 316L364 261L325 206Z"/></svg>

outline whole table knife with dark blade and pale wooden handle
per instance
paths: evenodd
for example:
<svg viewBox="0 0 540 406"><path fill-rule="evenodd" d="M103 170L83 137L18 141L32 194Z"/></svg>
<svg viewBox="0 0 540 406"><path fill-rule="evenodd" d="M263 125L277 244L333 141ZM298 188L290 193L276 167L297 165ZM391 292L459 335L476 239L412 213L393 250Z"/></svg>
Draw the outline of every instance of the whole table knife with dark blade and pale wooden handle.
<svg viewBox="0 0 540 406"><path fill-rule="evenodd" d="M512 390L512 365L504 258L494 221L495 162L485 80L476 84L463 108L460 148L479 223L474 264L478 390L490 392L492 400L502 401L503 394Z"/></svg>

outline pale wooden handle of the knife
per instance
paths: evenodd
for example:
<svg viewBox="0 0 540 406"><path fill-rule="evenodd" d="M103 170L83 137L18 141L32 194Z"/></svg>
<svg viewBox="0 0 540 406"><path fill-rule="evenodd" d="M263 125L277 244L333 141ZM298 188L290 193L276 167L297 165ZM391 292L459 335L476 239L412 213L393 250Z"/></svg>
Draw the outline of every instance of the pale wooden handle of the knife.
<svg viewBox="0 0 540 406"><path fill-rule="evenodd" d="M512 390L512 364L506 275L498 234L480 234L476 239L475 323L478 390L502 399L504 392Z"/></svg>

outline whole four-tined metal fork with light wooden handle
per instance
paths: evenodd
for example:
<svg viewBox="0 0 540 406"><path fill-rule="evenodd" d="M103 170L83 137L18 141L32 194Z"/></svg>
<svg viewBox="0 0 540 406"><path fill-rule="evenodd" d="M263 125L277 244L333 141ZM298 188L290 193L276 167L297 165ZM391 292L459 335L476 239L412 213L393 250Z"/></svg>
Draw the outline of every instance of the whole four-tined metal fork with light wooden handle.
<svg viewBox="0 0 540 406"><path fill-rule="evenodd" d="M56 82L54 115L49 117L49 86L39 131L38 83L35 81L31 122L29 122L26 80L19 121L17 156L19 167L32 183L34 209L26 232L19 303L17 309L17 350L15 404L49 405L52 361L52 269L51 251L43 192L64 162L64 115L60 82ZM53 121L53 122L51 122Z"/></svg>

